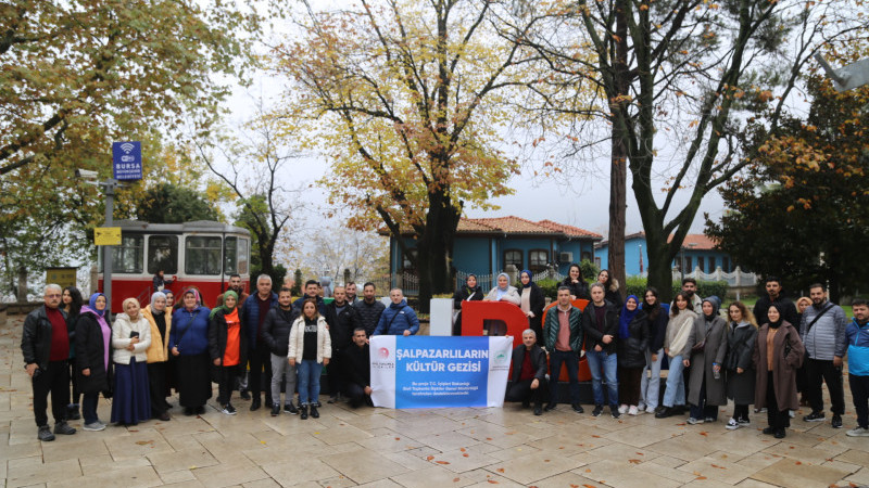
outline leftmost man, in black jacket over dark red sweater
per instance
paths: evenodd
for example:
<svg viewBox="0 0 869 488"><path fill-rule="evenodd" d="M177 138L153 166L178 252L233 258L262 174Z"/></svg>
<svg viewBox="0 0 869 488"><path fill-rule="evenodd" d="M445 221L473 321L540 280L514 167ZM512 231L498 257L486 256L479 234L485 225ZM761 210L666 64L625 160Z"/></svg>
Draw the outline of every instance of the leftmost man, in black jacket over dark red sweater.
<svg viewBox="0 0 869 488"><path fill-rule="evenodd" d="M54 434L75 434L66 423L70 403L70 330L66 313L59 307L63 288L56 284L46 286L45 305L27 314L21 337L24 369L34 388L34 415L39 427L39 440L54 440ZM48 426L48 394L51 393L51 414L54 434Z"/></svg>

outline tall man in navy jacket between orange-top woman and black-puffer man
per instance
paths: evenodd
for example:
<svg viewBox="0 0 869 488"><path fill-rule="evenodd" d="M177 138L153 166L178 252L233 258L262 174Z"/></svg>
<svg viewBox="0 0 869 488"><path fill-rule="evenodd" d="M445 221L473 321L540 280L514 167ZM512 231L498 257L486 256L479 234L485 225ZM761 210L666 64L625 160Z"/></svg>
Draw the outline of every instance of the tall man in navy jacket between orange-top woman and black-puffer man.
<svg viewBox="0 0 869 488"><path fill-rule="evenodd" d="M251 411L262 407L260 391L262 391L263 370L267 381L272 378L272 351L263 338L263 322L272 307L277 307L278 296L272 292L272 277L260 274L256 278L256 295L248 297L239 310L241 329L248 334L248 362L251 368L248 378L248 389L253 396ZM265 403L272 404L272 389L265 388Z"/></svg>

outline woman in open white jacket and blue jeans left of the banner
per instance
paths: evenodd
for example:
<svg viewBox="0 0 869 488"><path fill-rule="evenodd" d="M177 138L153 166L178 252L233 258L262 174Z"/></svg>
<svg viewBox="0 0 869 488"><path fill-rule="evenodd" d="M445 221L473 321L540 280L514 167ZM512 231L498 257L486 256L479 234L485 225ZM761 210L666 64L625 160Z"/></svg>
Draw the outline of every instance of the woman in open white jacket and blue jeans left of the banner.
<svg viewBox="0 0 869 488"><path fill-rule="evenodd" d="M290 331L288 361L291 368L299 370L299 403L301 418L319 419L317 400L319 399L319 376L324 365L329 365L332 356L332 344L326 319L317 312L317 301L305 298L302 314L295 319Z"/></svg>

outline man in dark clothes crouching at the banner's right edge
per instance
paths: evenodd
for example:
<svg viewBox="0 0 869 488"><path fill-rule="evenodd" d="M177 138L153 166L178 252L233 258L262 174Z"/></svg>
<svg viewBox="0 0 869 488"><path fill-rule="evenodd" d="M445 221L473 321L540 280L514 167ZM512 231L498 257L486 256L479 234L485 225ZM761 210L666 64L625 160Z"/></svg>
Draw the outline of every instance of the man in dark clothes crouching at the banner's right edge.
<svg viewBox="0 0 869 488"><path fill-rule="evenodd" d="M505 401L521 401L522 407L534 403L534 415L543 413L546 397L546 352L537 345L537 333L522 332L522 344L513 349L513 384Z"/></svg>

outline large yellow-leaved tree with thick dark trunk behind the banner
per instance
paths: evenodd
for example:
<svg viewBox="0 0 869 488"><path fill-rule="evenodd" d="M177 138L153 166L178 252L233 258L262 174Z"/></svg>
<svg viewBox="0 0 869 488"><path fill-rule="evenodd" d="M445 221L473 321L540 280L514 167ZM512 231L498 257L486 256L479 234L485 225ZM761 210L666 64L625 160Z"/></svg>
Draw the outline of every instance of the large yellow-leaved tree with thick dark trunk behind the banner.
<svg viewBox="0 0 869 488"><path fill-rule="evenodd" d="M515 87L537 80L515 40L500 36L505 2L360 0L298 18L274 51L291 81L287 111L307 120L332 159L323 179L349 226L386 226L419 277L420 307L451 292L465 205L492 208L518 170L499 132ZM414 237L415 247L406 237Z"/></svg>

